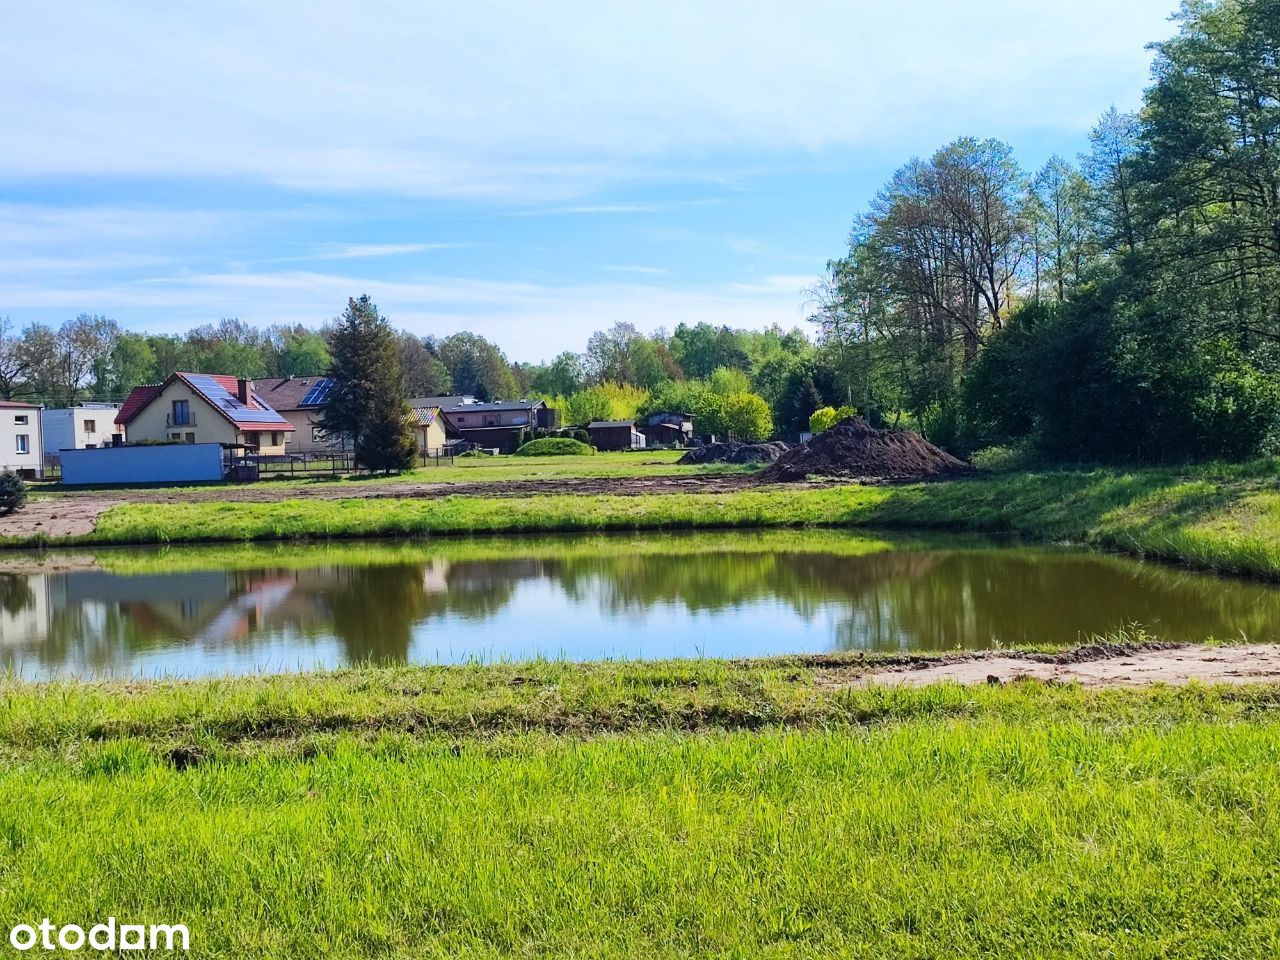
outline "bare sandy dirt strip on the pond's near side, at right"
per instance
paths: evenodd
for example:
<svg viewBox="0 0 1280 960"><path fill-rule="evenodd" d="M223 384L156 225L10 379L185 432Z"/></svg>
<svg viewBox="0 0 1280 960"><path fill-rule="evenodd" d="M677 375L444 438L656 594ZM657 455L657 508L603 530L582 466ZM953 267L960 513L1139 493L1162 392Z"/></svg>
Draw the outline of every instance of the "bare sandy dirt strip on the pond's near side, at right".
<svg viewBox="0 0 1280 960"><path fill-rule="evenodd" d="M1274 684L1280 681L1280 644L1249 646L1085 646L1065 654L980 653L922 658L886 669L864 673L844 686L925 686L957 684L1007 684L1034 677L1088 687L1149 686L1152 684Z"/></svg>

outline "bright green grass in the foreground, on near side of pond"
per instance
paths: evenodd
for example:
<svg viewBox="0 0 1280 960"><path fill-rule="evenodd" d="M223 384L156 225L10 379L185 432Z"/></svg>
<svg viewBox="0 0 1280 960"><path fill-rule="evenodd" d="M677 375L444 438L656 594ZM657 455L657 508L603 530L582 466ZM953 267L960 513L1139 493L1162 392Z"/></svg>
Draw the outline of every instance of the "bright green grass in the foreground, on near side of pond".
<svg viewBox="0 0 1280 960"><path fill-rule="evenodd" d="M1274 689L842 676L778 660L0 685L0 915L183 922L202 957L1280 943Z"/></svg>

